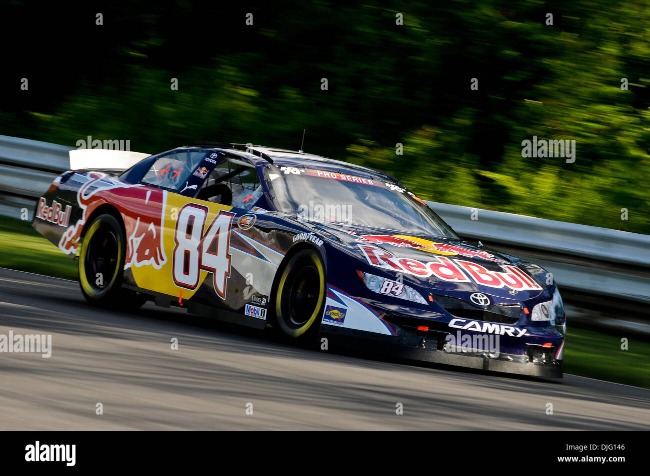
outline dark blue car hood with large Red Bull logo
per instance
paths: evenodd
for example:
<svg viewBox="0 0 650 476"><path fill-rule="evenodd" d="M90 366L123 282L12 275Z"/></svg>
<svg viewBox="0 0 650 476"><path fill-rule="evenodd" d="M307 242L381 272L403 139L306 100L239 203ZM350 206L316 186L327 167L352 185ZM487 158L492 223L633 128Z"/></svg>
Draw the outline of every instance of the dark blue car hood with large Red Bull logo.
<svg viewBox="0 0 650 476"><path fill-rule="evenodd" d="M303 222L363 262L360 271L396 279L426 294L469 299L482 293L500 301L526 301L544 292L546 271L474 242L404 232Z"/></svg>

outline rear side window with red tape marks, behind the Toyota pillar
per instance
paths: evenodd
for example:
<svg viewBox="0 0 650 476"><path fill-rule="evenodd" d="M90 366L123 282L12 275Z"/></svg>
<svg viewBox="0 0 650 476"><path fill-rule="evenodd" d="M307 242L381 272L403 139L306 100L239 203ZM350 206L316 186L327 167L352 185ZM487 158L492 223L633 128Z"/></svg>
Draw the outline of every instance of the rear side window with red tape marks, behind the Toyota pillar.
<svg viewBox="0 0 650 476"><path fill-rule="evenodd" d="M142 177L142 183L179 190L187 185L194 169L201 163L207 151L182 151L174 152L159 157ZM198 169L197 172L207 175L207 169ZM205 175L200 178L205 178Z"/></svg>

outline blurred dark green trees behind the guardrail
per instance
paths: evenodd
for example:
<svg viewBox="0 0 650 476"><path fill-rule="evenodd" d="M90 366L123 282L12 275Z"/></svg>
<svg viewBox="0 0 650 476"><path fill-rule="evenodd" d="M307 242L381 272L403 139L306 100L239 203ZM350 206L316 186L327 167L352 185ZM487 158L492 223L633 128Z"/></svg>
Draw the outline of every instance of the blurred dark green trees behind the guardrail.
<svg viewBox="0 0 650 476"><path fill-rule="evenodd" d="M646 1L235 4L10 1L0 134L156 153L307 129L305 151L424 199L650 233ZM521 157L534 135L575 162Z"/></svg>

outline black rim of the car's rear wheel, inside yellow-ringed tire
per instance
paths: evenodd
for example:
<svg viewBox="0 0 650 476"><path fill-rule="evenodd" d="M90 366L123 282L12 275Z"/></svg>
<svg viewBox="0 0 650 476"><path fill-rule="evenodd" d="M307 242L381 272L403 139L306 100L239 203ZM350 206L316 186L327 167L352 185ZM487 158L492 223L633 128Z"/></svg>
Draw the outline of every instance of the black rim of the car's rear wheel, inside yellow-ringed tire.
<svg viewBox="0 0 650 476"><path fill-rule="evenodd" d="M115 233L105 227L100 227L88 243L86 251L86 279L98 290L110 286L110 282L118 266L118 238ZM101 281L98 282L98 273Z"/></svg>

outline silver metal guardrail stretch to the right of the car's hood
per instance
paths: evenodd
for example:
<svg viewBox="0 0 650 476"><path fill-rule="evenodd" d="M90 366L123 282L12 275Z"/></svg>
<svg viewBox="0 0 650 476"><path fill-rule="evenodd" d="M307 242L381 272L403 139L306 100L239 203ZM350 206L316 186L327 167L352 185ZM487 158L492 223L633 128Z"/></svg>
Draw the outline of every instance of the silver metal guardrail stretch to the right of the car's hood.
<svg viewBox="0 0 650 476"><path fill-rule="evenodd" d="M516 247L513 254L547 269L562 289L650 303L650 235L428 204L464 238Z"/></svg>

